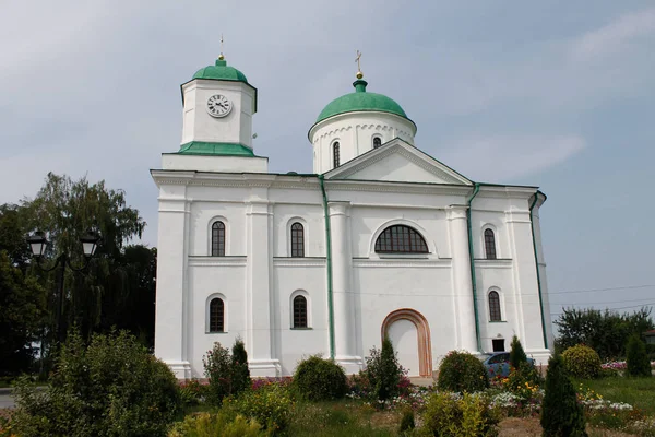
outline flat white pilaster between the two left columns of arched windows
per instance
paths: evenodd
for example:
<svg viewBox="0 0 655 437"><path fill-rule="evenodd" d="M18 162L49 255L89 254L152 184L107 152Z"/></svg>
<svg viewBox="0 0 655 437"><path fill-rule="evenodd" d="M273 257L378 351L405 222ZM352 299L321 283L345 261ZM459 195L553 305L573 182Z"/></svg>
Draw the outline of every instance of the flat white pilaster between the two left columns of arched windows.
<svg viewBox="0 0 655 437"><path fill-rule="evenodd" d="M265 191L265 188L262 189ZM262 196L263 194L263 196ZM248 363L250 374L255 377L278 376L279 363L273 359L271 315L271 205L265 193L247 203L247 320Z"/></svg>

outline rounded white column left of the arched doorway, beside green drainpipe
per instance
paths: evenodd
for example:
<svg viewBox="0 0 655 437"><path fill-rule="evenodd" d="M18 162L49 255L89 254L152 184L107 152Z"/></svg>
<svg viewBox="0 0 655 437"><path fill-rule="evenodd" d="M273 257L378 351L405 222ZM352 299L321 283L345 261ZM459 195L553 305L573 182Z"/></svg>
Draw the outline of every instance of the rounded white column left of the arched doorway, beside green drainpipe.
<svg viewBox="0 0 655 437"><path fill-rule="evenodd" d="M332 228L332 298L334 304L335 359L347 374L360 369L361 357L354 356L355 311L350 282L353 256L348 226L349 202L329 202Z"/></svg>

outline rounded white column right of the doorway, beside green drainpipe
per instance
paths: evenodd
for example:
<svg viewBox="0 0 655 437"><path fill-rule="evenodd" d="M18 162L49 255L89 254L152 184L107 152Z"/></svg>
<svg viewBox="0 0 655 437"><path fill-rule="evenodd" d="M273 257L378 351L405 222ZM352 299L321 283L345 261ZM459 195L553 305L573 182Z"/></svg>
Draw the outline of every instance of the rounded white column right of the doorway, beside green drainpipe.
<svg viewBox="0 0 655 437"><path fill-rule="evenodd" d="M471 280L471 256L468 253L467 205L450 205L446 210L449 223L455 320L457 321L457 347L477 352L473 282Z"/></svg>

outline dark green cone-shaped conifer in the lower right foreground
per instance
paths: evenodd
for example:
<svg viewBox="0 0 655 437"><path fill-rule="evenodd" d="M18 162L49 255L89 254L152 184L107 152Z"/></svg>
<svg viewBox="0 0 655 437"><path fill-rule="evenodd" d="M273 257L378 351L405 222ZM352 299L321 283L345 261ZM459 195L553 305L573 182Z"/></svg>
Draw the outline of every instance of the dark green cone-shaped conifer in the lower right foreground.
<svg viewBox="0 0 655 437"><path fill-rule="evenodd" d="M582 404L558 354L548 361L546 394L541 403L541 427L545 437L586 437Z"/></svg>

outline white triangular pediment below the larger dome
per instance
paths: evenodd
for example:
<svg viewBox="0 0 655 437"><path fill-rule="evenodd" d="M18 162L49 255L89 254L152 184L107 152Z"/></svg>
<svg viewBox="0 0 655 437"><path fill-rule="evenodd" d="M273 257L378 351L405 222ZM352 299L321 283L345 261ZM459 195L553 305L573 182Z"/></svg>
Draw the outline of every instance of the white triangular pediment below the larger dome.
<svg viewBox="0 0 655 437"><path fill-rule="evenodd" d="M392 140L325 174L327 179L471 185L471 180L402 140Z"/></svg>

